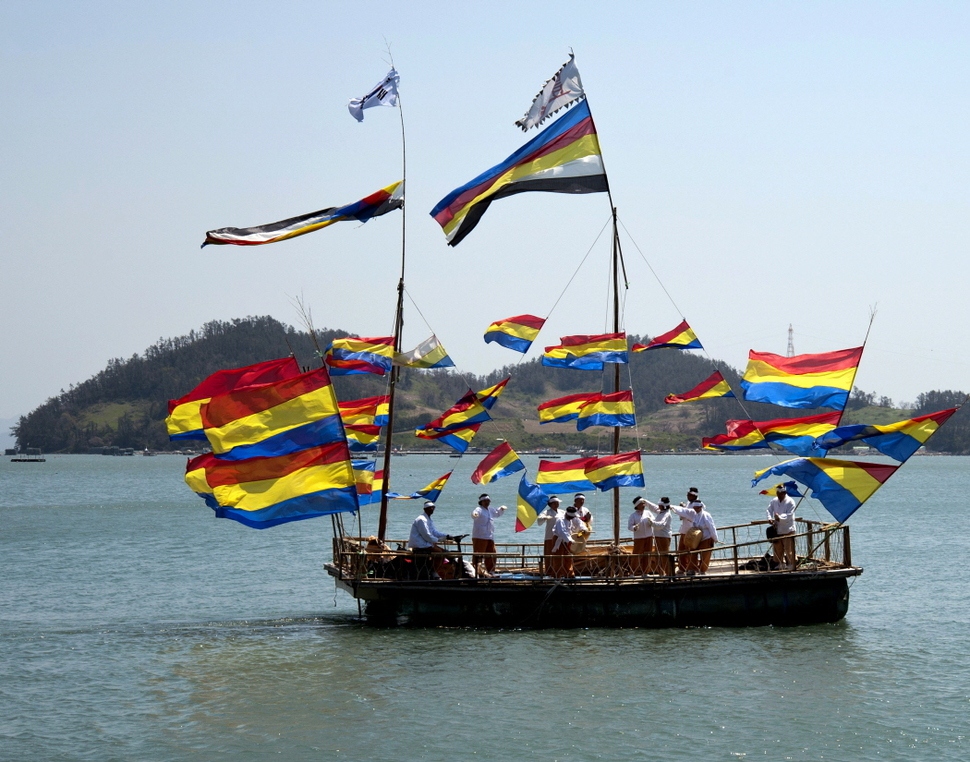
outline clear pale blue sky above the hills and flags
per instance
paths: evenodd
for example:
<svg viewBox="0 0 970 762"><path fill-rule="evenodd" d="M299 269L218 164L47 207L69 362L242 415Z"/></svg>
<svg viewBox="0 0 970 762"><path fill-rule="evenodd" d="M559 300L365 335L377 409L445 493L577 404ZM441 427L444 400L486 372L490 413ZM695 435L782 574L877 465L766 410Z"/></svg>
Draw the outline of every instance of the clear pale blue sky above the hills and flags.
<svg viewBox="0 0 970 762"><path fill-rule="evenodd" d="M963 3L2 3L0 419L209 320L298 324L300 294L317 327L388 333L399 213L199 249L400 178L397 111L346 109L385 40L408 291L462 370L514 361L485 327L547 314L590 247L537 343L607 328L605 195L498 201L454 249L428 216L525 142L571 47L632 236L627 330L682 313L743 368L789 324L799 353L858 345L878 305L859 386L970 390L968 39Z"/></svg>

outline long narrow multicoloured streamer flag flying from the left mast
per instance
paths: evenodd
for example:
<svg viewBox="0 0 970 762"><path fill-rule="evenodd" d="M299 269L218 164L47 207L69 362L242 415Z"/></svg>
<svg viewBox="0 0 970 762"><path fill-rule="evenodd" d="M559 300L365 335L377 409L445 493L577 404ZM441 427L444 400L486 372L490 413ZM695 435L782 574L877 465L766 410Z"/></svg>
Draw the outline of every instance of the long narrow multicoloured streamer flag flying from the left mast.
<svg viewBox="0 0 970 762"><path fill-rule="evenodd" d="M205 243L233 244L235 246L258 246L264 243L276 243L287 238L312 233L314 230L333 225L343 220L357 220L367 222L372 217L380 217L404 206L404 183L398 181L382 188L376 193L365 196L353 204L336 207L331 206L318 212L301 214L288 220L271 222L268 225L257 225L251 228L219 228L205 234Z"/></svg>

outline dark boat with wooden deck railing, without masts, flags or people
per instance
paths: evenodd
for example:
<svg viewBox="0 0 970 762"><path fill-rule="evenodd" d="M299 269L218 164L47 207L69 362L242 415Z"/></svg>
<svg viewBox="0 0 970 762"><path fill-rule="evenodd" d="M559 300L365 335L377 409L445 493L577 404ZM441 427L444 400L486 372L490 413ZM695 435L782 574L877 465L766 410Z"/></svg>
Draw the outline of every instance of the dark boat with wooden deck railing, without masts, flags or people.
<svg viewBox="0 0 970 762"><path fill-rule="evenodd" d="M730 542L696 575L633 573L629 539L618 549L590 542L573 559L572 579L549 576L541 544L506 543L497 545L496 577L445 578L463 568L459 547L439 559L441 579L420 580L405 543L381 550L374 538L339 535L326 569L378 626L746 627L842 619L849 580L862 574L852 565L849 527L799 519L797 568L772 571L765 523L722 529Z"/></svg>

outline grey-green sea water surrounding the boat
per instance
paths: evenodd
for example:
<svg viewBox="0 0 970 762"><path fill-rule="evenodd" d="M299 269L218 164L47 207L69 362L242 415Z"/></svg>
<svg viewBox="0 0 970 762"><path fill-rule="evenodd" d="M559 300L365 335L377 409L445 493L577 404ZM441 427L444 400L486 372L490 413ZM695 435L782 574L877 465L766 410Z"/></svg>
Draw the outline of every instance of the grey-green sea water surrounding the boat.
<svg viewBox="0 0 970 762"><path fill-rule="evenodd" d="M476 462L396 457L395 489L454 469L435 522L468 532ZM773 462L649 456L645 494L762 518ZM968 465L915 457L852 517L865 573L838 624L529 631L362 626L323 569L329 518L217 520L183 458L4 459L0 760L966 760ZM487 488L512 506L497 540L538 541L517 482ZM388 535L419 511L393 503Z"/></svg>

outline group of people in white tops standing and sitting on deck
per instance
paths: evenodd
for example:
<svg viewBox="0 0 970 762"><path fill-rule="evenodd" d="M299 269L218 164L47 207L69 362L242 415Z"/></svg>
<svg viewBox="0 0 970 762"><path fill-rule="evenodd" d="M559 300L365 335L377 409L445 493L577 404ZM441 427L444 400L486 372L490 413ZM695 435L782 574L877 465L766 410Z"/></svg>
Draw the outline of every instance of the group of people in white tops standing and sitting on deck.
<svg viewBox="0 0 970 762"><path fill-rule="evenodd" d="M478 505L472 511L472 564L479 577L494 577L495 574L495 519L507 507L492 506L487 494L478 498ZM586 508L586 496L577 493L573 504L561 508L562 500L550 497L546 507L536 517L536 522L545 529L543 547L544 573L548 576L572 578L573 555L577 545L585 544L592 533L593 516ZM781 568L794 569L795 556L795 502L788 497L784 486L778 487L775 498L768 506L770 527L768 536L772 539L775 560ZM408 547L414 552L419 578L434 579L432 554L441 553L437 546L440 540L454 540L435 527L431 516L435 504L430 500L424 504L424 511L411 525ZM678 543L671 554L670 544L674 534L671 528L673 517L680 519L677 530ZM687 491L687 500L680 505L671 505L667 497L659 503L652 503L638 495L633 499L633 513L627 521L627 529L633 533L633 556L631 571L635 575L660 574L672 575L675 571L682 574L705 574L711 565L714 545L719 542L717 526L699 499L696 487ZM676 560L675 560L676 559Z"/></svg>

